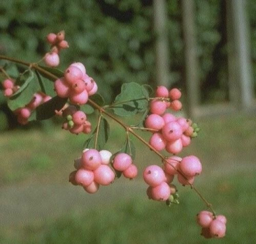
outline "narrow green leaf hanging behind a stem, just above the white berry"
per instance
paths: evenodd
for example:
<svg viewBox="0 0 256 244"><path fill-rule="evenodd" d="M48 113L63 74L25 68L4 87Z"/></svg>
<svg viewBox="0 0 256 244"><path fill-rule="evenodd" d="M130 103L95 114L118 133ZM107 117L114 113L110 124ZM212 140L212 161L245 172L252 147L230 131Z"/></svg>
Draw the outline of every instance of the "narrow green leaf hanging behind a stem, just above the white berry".
<svg viewBox="0 0 256 244"><path fill-rule="evenodd" d="M92 136L85 141L83 144L83 148L94 148L95 140L97 137L97 146L96 149L98 151L101 151L104 149L104 146L106 145L106 142L108 141L108 135L109 135L109 124L106 119L101 117L101 121L99 123L99 133L97 137L97 128L95 128L94 132L92 133Z"/></svg>

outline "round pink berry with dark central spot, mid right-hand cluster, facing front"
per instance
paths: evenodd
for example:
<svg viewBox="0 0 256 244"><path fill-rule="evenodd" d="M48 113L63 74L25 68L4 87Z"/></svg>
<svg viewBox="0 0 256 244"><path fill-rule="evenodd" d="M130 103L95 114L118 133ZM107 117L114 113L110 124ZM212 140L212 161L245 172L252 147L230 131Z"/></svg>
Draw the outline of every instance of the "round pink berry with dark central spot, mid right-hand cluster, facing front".
<svg viewBox="0 0 256 244"><path fill-rule="evenodd" d="M162 128L162 135L168 142L176 141L183 135L183 130L178 122L172 121L166 123Z"/></svg>

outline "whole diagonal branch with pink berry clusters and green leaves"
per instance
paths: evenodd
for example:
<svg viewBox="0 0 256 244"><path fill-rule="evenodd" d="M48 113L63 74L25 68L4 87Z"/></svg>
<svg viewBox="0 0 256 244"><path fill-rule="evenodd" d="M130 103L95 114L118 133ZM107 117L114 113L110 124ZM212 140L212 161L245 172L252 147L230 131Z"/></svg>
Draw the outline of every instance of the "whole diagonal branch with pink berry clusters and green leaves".
<svg viewBox="0 0 256 244"><path fill-rule="evenodd" d="M164 201L169 206L178 204L177 188L173 184L176 176L178 183L189 185L206 204L207 210L197 215L201 235L205 238L225 236L225 216L217 215L212 205L194 187L194 180L202 171L199 158L195 155L180 158L177 155L190 145L191 139L197 137L199 132L196 123L175 115L182 108L180 90L174 88L169 91L165 86L158 86L152 93L147 84L130 82L122 85L120 94L111 105L105 105L104 98L97 93L97 82L87 74L83 63L71 63L64 73L52 68L59 65L59 51L69 47L64 39L64 31L48 34L51 48L43 58L46 66L0 56L0 59L10 61L0 67L6 77L1 85L17 121L24 125L29 121L61 116L64 130L75 135L88 134L83 152L74 160L76 170L69 175L69 181L91 194L120 176L129 179L137 176L136 150L131 139L136 137L159 156L159 165L148 165L143 171L143 179L148 184L148 198ZM23 67L20 75L17 66ZM87 120L87 114L92 112L98 116L96 125ZM128 125L120 119L135 114L141 115L141 121L136 125ZM110 133L109 119L121 125L125 132L125 142L117 152L105 149ZM136 130L151 133L149 141Z"/></svg>

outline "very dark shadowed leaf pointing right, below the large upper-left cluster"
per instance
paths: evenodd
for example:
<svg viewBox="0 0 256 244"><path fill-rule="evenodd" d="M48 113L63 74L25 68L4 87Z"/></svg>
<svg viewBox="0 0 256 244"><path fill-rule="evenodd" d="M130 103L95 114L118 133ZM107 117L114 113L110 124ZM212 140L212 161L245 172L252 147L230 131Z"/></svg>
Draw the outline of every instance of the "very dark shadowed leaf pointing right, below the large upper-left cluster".
<svg viewBox="0 0 256 244"><path fill-rule="evenodd" d="M59 111L62 109L67 100L67 98L59 98L58 96L55 96L47 102L44 102L36 108L36 120L42 121L55 116L55 110Z"/></svg>

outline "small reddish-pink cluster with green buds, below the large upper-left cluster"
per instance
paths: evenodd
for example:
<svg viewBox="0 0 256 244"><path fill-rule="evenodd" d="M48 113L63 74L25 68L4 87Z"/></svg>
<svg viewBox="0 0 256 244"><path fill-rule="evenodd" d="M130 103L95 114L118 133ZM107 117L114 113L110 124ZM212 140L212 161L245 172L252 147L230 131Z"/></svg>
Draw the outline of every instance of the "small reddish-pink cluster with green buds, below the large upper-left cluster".
<svg viewBox="0 0 256 244"><path fill-rule="evenodd" d="M62 111L62 117L66 121L62 124L64 130L78 135L79 133L89 134L92 131L92 124L87 121L87 116L83 111L78 110L76 106L70 105Z"/></svg>

